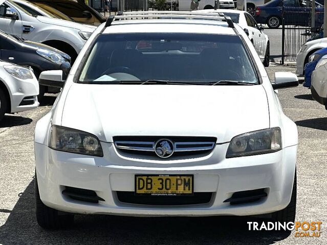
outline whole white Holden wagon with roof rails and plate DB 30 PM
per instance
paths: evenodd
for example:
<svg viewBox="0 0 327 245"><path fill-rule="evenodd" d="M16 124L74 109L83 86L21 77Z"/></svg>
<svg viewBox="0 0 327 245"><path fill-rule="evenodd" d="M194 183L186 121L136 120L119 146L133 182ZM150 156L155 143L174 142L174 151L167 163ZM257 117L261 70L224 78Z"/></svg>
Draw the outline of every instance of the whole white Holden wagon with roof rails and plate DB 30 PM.
<svg viewBox="0 0 327 245"><path fill-rule="evenodd" d="M113 21L114 20L114 21ZM235 25L235 26L234 26ZM35 129L38 224L74 213L294 220L297 129L228 16L129 12L92 34Z"/></svg>

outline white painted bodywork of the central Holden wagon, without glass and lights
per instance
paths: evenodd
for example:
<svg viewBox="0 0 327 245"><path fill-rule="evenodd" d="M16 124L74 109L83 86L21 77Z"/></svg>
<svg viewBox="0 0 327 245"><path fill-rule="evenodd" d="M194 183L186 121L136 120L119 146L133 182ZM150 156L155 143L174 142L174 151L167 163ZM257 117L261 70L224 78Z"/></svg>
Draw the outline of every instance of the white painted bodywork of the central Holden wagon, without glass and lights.
<svg viewBox="0 0 327 245"><path fill-rule="evenodd" d="M235 35L232 28L226 27L226 22L168 19L143 21L125 21L126 24L123 25L114 21L103 33L155 33L160 30L162 33ZM192 24L192 21L195 23ZM199 27L199 24L202 26ZM266 69L241 27L235 24L236 31L242 36L253 57L261 84L211 87L74 83L74 76L83 57L88 54L92 40L102 33L103 28L104 24L101 24L86 42L52 110L37 122L35 128L36 174L40 199L45 205L61 211L84 214L206 216L271 213L284 209L290 203L296 167L297 128L282 112ZM166 106L171 108L165 119L169 123L165 127L158 123L156 118L160 115L154 105L147 103L142 106L142 103L154 98L164 98L168 103ZM191 106L180 110L172 103L173 100L190 103ZM104 156L92 157L50 149L48 142L51 125L96 135L101 141ZM281 129L282 150L263 155L226 158L233 137L274 127ZM145 160L142 157L121 155L112 139L117 135L213 136L217 137L217 143L213 151L204 157ZM158 207L121 203L116 191L134 191L135 174L192 174L194 191L210 191L214 192L214 196L209 204L202 205ZM94 190L105 201L89 204L68 200L61 193L63 186ZM236 206L223 203L235 191L258 188L269 189L268 197L258 203Z"/></svg>

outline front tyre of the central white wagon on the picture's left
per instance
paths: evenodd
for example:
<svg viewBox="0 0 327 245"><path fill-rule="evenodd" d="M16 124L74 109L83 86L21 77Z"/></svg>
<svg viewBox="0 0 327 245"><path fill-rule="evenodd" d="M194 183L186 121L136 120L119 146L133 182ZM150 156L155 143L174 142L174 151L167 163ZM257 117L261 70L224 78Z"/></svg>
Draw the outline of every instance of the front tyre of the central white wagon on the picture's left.
<svg viewBox="0 0 327 245"><path fill-rule="evenodd" d="M49 208L42 203L38 190L37 177L35 173L34 182L35 213L37 224L44 229L62 229L74 224L73 214L59 215L58 210Z"/></svg>

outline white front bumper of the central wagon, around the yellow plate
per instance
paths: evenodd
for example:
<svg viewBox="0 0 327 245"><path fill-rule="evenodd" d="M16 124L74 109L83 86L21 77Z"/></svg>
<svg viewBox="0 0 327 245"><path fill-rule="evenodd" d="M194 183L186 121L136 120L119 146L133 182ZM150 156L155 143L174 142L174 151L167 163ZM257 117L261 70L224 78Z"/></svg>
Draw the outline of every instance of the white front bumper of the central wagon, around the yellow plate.
<svg viewBox="0 0 327 245"><path fill-rule="evenodd" d="M102 146L112 147L112 144ZM144 167L128 166L127 160L123 159L118 164L107 162L104 157L59 152L35 143L36 174L42 202L65 212L130 216L256 215L281 210L289 204L296 149L294 145L271 154L228 158L207 165L194 166L190 161L190 166L183 167L171 167L170 164L170 167ZM194 193L212 192L212 197L205 204L181 206L121 202L117 191L133 192L136 174L193 175ZM88 203L71 199L62 194L65 186L94 190L105 201ZM224 203L234 192L261 188L265 188L268 195L257 202Z"/></svg>

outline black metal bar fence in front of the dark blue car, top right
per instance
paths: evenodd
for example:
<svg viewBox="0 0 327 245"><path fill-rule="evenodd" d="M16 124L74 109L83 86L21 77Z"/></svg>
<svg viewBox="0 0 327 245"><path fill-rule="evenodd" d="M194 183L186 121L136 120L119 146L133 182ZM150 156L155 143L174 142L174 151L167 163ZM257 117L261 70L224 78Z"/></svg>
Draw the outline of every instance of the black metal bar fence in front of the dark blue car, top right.
<svg viewBox="0 0 327 245"><path fill-rule="evenodd" d="M300 47L311 37L312 8L282 8L281 63L295 61ZM315 27L323 22L323 8L315 8Z"/></svg>

